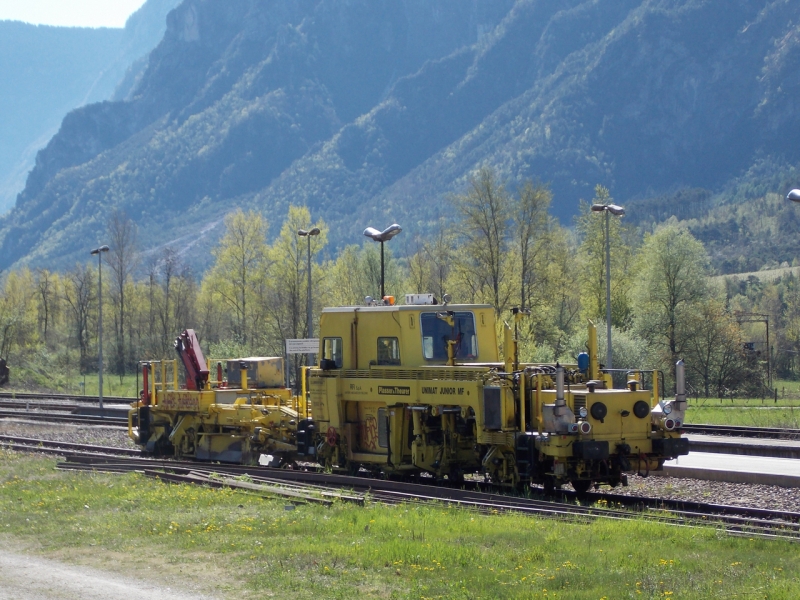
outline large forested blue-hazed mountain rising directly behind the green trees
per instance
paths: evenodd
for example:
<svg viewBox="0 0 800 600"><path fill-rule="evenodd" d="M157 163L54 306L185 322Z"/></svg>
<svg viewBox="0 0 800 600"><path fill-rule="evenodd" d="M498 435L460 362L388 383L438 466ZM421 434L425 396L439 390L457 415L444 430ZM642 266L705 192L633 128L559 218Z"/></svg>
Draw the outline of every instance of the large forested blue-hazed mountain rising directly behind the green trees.
<svg viewBox="0 0 800 600"><path fill-rule="evenodd" d="M275 235L305 205L333 249L422 235L482 165L550 182L563 222L598 183L633 210L772 181L800 161L798 23L783 0L185 0L125 99L42 150L0 268L73 263L115 208L198 270L234 207Z"/></svg>

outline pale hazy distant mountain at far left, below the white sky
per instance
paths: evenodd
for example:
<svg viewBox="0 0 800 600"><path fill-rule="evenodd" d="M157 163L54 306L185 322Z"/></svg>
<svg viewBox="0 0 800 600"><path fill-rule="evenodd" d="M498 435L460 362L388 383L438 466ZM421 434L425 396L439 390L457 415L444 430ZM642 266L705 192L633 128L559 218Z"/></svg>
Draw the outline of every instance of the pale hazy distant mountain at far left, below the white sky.
<svg viewBox="0 0 800 600"><path fill-rule="evenodd" d="M118 86L124 97L179 1L148 0L125 29L0 21L0 214L13 206L64 115L111 98Z"/></svg>

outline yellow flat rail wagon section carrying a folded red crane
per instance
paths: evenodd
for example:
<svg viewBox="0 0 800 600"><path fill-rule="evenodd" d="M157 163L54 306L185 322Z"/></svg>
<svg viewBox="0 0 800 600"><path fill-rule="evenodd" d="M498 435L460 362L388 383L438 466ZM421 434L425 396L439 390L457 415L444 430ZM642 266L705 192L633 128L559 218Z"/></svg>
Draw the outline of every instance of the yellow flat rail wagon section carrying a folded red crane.
<svg viewBox="0 0 800 600"><path fill-rule="evenodd" d="M218 362L212 380L193 330L175 340L175 349L185 383L177 360L144 363L141 398L128 414L128 435L145 454L245 464L263 455L271 466L294 461L306 407L283 387L282 358L228 360L227 379Z"/></svg>

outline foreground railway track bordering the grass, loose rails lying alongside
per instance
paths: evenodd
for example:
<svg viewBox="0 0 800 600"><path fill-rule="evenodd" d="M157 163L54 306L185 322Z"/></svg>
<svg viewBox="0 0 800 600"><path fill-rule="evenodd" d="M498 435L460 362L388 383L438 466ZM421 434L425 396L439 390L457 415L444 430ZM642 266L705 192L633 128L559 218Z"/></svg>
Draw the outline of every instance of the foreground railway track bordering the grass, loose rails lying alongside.
<svg viewBox="0 0 800 600"><path fill-rule="evenodd" d="M551 518L645 519L689 527L717 527L732 535L759 536L800 541L800 513L743 508L660 498L590 493L577 503L576 495L563 493L561 501L498 493L488 484L467 482L460 487L433 485L434 481L409 483L327 474L314 471L270 469L258 466L210 465L208 463L155 460L134 457L137 450L48 442L0 436L0 445L31 452L66 456L60 469L78 471L138 471L174 483L234 487L292 502L327 503L334 498L363 504L382 502L444 502L484 513L517 512ZM246 480L243 480L246 476Z"/></svg>

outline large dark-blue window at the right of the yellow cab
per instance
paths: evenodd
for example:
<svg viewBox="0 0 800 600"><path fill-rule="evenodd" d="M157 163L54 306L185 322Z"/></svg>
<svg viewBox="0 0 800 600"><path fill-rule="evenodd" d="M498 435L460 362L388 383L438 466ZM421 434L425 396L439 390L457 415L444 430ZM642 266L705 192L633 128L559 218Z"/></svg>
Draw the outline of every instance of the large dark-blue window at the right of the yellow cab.
<svg viewBox="0 0 800 600"><path fill-rule="evenodd" d="M478 358L475 315L471 312L427 312L419 316L425 360L447 360L447 342L453 341L457 360ZM452 324L451 324L452 323Z"/></svg>

